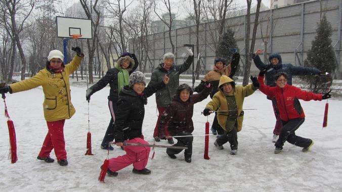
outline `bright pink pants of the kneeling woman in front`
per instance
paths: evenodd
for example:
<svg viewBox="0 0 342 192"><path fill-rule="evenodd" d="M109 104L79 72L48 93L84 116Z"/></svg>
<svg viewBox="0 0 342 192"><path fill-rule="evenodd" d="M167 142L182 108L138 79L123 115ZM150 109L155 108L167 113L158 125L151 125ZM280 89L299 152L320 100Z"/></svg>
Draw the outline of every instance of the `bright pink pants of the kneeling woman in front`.
<svg viewBox="0 0 342 192"><path fill-rule="evenodd" d="M141 144L149 145L147 141L145 141L144 139L140 137L127 140L126 142L141 143ZM124 146L123 149L126 152L125 155L109 159L108 168L111 171L116 172L131 164L133 164L133 167L137 170L142 170L146 167L147 162L148 162L148 157L150 155L150 150L151 150L150 147Z"/></svg>

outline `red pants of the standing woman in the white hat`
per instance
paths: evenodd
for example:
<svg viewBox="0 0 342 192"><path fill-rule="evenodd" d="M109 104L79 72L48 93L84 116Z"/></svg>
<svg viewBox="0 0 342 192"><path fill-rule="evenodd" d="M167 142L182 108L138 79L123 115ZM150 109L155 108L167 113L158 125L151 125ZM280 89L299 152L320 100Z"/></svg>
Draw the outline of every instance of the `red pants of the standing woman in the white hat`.
<svg viewBox="0 0 342 192"><path fill-rule="evenodd" d="M41 147L39 157L50 157L50 153L54 149L58 161L66 159L63 133L64 122L65 119L59 121L47 121L49 130Z"/></svg>

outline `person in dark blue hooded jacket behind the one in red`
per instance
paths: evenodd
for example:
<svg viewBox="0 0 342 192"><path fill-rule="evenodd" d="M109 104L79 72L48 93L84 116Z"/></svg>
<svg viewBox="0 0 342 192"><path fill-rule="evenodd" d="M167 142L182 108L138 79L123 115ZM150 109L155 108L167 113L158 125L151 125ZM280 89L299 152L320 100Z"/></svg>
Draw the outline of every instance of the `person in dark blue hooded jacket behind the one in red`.
<svg viewBox="0 0 342 192"><path fill-rule="evenodd" d="M287 84L292 85L292 76L293 75L320 75L321 73L316 68L310 68L310 67L302 67L302 66L293 66L291 64L283 64L281 61L281 57L278 53L272 53L269 56L269 62L270 64L264 64L259 54L262 54L264 50L259 49L255 51L255 53L252 55L252 59L254 61L255 66L259 70L267 69L266 71L266 85L274 87L275 81L275 75L279 72L285 72L287 74ZM276 142L278 139L278 135L280 134L280 131L282 129L282 123L281 119L279 117L278 109L276 108L275 101L273 98L267 98L269 100L272 100L273 105L273 111L276 117L276 125L273 130L273 142Z"/></svg>

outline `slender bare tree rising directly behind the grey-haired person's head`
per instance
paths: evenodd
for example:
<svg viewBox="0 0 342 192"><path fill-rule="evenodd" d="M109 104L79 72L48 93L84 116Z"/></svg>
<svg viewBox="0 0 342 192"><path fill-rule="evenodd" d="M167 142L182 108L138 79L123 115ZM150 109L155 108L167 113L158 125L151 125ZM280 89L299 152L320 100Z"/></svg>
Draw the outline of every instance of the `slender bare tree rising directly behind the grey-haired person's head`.
<svg viewBox="0 0 342 192"><path fill-rule="evenodd" d="M174 13L172 11L176 9L176 6L174 6L172 3L170 3L170 0L160 0L161 2L161 8L159 8L159 5L157 3L157 0L153 0L154 4L154 13L157 15L157 17L162 21L168 28L168 39L170 40L170 44L172 46L172 53L175 53L175 45L172 40L171 31L173 29L173 22L176 19ZM160 16L160 13L157 12L162 11L162 15ZM166 11L164 11L166 10ZM177 11L178 12L178 11Z"/></svg>

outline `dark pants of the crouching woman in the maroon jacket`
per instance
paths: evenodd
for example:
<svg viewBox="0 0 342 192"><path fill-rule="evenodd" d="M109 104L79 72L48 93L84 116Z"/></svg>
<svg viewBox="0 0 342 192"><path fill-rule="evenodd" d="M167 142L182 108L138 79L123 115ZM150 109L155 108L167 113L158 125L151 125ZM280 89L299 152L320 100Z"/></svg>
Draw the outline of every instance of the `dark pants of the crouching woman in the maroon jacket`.
<svg viewBox="0 0 342 192"><path fill-rule="evenodd" d="M188 149L184 150L184 154L192 154L192 141L194 140L194 137L191 133L187 132L180 132L177 134L172 134L173 136L186 136L186 137L175 137L177 139L177 143L173 146L177 147L187 147ZM183 150L182 149L166 149L167 154L179 154Z"/></svg>

